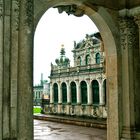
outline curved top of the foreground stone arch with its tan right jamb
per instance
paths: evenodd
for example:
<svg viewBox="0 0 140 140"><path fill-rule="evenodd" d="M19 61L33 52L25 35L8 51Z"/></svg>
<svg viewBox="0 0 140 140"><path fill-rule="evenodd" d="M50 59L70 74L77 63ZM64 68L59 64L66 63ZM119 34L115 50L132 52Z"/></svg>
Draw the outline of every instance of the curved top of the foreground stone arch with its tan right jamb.
<svg viewBox="0 0 140 140"><path fill-rule="evenodd" d="M53 0L51 2L43 2L39 3L35 1L34 8L34 20L35 20L35 27L37 26L38 21L40 20L41 16L51 7L57 6L66 6L66 5L76 5L84 14L89 16L91 20L96 24L97 28L99 29L106 52L106 73L107 73L107 94L108 94L108 129L107 129L107 137L108 140L113 136L114 140L119 139L119 127L120 127L120 120L119 120L119 92L121 87L119 87L120 75L119 73L119 64L118 61L118 50L119 50L119 32L118 28L115 25L111 15L109 12L103 7L90 7L84 5L81 1L71 0L70 2L66 0ZM114 11L112 11L113 13ZM117 14L117 13L116 13ZM109 41L108 41L109 40ZM121 59L121 58L120 58ZM114 64L114 65L112 65ZM114 111L115 110L115 111ZM115 128L112 131L112 127Z"/></svg>

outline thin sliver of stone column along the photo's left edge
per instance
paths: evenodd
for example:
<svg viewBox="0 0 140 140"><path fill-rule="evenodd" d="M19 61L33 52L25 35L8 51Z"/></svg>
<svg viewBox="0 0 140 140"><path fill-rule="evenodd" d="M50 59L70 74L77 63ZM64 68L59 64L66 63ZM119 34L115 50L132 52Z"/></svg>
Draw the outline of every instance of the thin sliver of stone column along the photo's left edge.
<svg viewBox="0 0 140 140"><path fill-rule="evenodd" d="M3 0L0 0L0 140L2 140L2 104L3 104Z"/></svg>

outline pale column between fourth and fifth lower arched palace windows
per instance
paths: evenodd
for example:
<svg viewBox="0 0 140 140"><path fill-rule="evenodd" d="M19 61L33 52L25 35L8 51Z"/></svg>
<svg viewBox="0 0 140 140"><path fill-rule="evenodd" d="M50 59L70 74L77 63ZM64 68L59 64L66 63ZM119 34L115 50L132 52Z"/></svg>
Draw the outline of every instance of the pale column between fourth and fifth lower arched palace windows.
<svg viewBox="0 0 140 140"><path fill-rule="evenodd" d="M90 80L87 80L87 97L88 97L88 105L92 105L92 91L91 91L91 83Z"/></svg>

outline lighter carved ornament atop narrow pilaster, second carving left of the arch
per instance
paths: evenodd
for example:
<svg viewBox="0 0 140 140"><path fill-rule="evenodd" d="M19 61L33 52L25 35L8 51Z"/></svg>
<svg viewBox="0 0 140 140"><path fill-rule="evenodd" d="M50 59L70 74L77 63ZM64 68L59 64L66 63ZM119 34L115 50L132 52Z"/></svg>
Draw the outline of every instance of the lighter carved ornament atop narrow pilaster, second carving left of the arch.
<svg viewBox="0 0 140 140"><path fill-rule="evenodd" d="M15 30L19 29L19 0L12 1L12 12L13 12L13 24L15 26Z"/></svg>

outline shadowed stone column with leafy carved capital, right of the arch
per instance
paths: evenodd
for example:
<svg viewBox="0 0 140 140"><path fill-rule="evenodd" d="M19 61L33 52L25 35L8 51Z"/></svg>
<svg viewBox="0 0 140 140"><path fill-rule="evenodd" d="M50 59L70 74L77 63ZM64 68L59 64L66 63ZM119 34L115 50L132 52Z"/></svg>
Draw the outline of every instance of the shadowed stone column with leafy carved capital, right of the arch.
<svg viewBox="0 0 140 140"><path fill-rule="evenodd" d="M122 140L135 138L134 110L134 48L136 28L133 19L120 20L122 47Z"/></svg>

